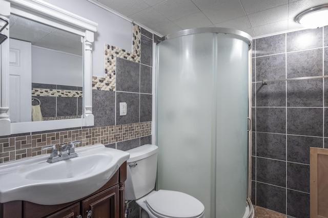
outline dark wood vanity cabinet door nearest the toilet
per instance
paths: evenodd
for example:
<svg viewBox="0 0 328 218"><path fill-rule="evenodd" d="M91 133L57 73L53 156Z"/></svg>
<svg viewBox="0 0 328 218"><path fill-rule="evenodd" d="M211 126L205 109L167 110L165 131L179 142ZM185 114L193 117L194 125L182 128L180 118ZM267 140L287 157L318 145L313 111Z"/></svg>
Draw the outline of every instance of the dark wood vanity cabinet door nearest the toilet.
<svg viewBox="0 0 328 218"><path fill-rule="evenodd" d="M87 218L87 211L90 210L91 217L119 218L118 185L82 201L83 217Z"/></svg>

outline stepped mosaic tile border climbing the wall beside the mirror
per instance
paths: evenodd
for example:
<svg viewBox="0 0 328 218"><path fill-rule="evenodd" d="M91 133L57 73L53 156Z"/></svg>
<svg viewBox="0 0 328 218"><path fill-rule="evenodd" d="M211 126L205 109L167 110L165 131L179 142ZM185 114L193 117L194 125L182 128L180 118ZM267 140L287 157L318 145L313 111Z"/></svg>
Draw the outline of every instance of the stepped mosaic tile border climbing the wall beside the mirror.
<svg viewBox="0 0 328 218"><path fill-rule="evenodd" d="M115 46L105 45L105 77L92 77L92 89L115 91L116 90L116 57L134 62L140 62L141 28L133 24L132 50L120 49Z"/></svg>

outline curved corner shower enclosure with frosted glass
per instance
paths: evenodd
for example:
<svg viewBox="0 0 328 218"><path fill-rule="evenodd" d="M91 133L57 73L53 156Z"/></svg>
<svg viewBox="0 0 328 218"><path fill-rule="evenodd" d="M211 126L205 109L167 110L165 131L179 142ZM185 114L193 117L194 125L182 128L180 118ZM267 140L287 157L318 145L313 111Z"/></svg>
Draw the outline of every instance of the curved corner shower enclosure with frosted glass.
<svg viewBox="0 0 328 218"><path fill-rule="evenodd" d="M197 28L156 46L157 188L188 193L204 217L249 217L248 34Z"/></svg>

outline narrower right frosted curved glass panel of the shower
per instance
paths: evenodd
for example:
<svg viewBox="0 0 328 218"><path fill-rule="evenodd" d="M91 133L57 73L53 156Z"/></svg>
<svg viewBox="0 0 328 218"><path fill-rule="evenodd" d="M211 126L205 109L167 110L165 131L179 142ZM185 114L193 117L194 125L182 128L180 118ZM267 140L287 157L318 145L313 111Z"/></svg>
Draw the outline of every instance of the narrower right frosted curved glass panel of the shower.
<svg viewBox="0 0 328 218"><path fill-rule="evenodd" d="M248 44L217 35L216 217L243 217L247 199Z"/></svg>

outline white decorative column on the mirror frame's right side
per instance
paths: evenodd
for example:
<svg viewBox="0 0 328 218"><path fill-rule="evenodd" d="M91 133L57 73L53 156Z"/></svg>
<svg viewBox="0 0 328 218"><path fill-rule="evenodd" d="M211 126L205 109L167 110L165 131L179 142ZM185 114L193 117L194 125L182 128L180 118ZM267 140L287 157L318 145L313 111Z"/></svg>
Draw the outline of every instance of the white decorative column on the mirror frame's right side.
<svg viewBox="0 0 328 218"><path fill-rule="evenodd" d="M94 117L92 114L92 42L93 32L86 30L84 38L84 114L85 125L93 126Z"/></svg>

